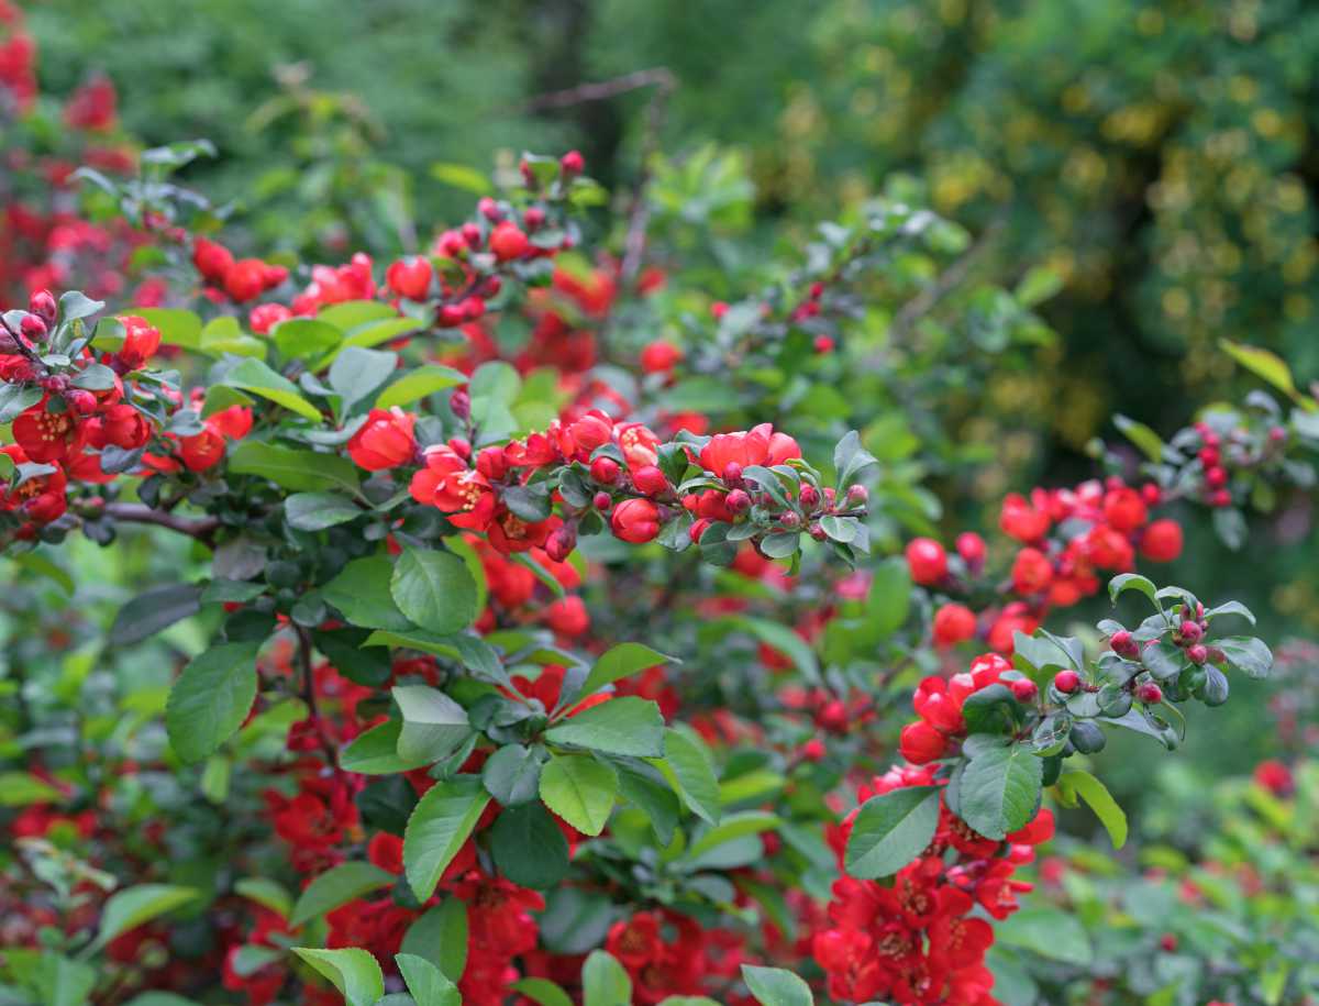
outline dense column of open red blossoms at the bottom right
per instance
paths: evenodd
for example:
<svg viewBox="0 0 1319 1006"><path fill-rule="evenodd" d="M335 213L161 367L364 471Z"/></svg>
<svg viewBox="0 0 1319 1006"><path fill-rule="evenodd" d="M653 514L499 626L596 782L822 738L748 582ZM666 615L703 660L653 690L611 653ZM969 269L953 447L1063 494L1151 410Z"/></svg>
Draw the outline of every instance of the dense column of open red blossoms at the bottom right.
<svg viewBox="0 0 1319 1006"><path fill-rule="evenodd" d="M859 804L907 787L944 786L926 763L958 741L962 701L1000 680L1010 664L996 654L977 657L969 672L951 680L927 677L915 692L921 720L902 731L902 756L913 764L890 768L863 786ZM1028 683L1030 684L1030 683ZM1031 685L1034 688L1034 685ZM984 966L995 919L1017 910L1017 894L1030 885L1013 879L1035 857L1034 846L1053 837L1053 812L1043 809L1004 841L972 830L939 795L939 825L929 848L894 877L892 887L842 877L834 883L828 924L815 932L813 953L828 976L830 995L852 1002L993 1006L993 976ZM830 832L839 857L857 811Z"/></svg>

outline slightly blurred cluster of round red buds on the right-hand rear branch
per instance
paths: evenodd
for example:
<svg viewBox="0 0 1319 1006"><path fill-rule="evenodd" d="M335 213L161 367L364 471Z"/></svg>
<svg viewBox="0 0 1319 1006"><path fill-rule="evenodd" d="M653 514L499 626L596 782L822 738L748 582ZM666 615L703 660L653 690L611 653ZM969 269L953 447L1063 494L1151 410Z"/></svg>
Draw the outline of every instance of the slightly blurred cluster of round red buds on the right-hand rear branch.
<svg viewBox="0 0 1319 1006"><path fill-rule="evenodd" d="M954 646L983 638L1000 654L1012 651L1014 632L1034 632L1053 607L1068 607L1095 594L1101 574L1134 568L1137 553L1153 562L1171 562L1182 552L1182 528L1169 518L1150 520L1163 499L1158 486L1134 488L1119 478L1091 479L1075 488L1035 488L1029 496L1009 494L998 518L1016 541L1008 582L997 599L977 614L950 601L934 618L934 640ZM929 537L906 547L911 578L922 586L971 599L985 576L985 543L973 532L956 541L958 564Z"/></svg>

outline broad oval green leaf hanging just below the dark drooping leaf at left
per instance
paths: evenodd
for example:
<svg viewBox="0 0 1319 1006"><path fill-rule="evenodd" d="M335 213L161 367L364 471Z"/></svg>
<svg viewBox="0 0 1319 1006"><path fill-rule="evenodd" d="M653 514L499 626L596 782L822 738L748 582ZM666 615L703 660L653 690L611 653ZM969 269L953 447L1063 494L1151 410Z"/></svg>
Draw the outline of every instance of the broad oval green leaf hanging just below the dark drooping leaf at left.
<svg viewBox="0 0 1319 1006"><path fill-rule="evenodd" d="M185 762L214 754L256 700L255 643L222 643L189 661L165 704L170 746Z"/></svg>

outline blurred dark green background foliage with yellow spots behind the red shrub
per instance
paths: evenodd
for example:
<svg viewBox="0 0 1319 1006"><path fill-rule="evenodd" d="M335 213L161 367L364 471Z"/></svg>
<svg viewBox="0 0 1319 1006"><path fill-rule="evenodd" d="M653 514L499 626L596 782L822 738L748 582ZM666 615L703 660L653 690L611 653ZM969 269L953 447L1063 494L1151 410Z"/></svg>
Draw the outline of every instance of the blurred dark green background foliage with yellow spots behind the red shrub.
<svg viewBox="0 0 1319 1006"><path fill-rule="evenodd" d="M580 148L616 209L649 165L653 247L674 256L658 264L711 297L822 218L880 193L927 202L969 232L972 305L980 280L1041 283L1060 337L968 389L951 433L983 463L947 494L959 519L1092 473L1084 446L1115 437L1115 412L1171 432L1239 399L1257 383L1221 338L1319 374L1304 0L45 0L28 17L45 90L104 71L144 144L214 140L220 156L183 177L262 252L421 248L524 148ZM677 81L657 135L654 87L543 100L650 67ZM1249 562L1195 527L1169 578L1232 581L1264 635L1312 634L1298 525L1308 514L1254 536ZM1203 727L1194 754L1215 771L1274 750L1258 717ZM1108 758L1136 796L1140 753Z"/></svg>

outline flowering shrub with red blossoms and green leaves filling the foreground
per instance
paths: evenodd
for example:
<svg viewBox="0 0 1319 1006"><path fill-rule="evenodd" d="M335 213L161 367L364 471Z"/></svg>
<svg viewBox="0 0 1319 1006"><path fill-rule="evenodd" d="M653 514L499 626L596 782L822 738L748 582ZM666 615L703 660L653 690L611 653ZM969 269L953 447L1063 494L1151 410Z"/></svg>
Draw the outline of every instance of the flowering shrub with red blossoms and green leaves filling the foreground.
<svg viewBox="0 0 1319 1006"><path fill-rule="evenodd" d="M568 152L426 255L305 264L168 181L204 152L86 176L168 286L3 316L7 618L41 630L7 636L17 1001L1008 1001L1046 793L1121 845L1105 730L1171 750L1270 671L1223 634L1245 606L1136 568L1183 548L1159 508L1306 487L1295 388L1169 445L1122 421L1138 479L1101 453L1005 498L1010 556L950 554L921 483L955 437L917 457L888 411L942 429L1041 337L1000 292L980 355L909 387L960 322L872 312L951 224L876 202L716 300L583 252L607 195ZM1149 614L1045 628L1105 584Z"/></svg>

